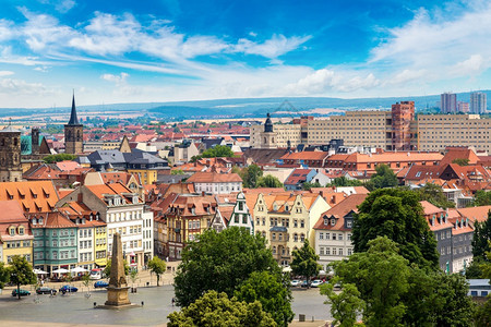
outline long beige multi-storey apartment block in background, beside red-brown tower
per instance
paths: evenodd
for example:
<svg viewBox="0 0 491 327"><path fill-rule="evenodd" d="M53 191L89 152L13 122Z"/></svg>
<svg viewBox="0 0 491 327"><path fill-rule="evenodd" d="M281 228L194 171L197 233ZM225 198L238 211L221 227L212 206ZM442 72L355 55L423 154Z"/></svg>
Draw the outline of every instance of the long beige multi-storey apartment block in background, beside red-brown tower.
<svg viewBox="0 0 491 327"><path fill-rule="evenodd" d="M396 105L397 106L397 105ZM324 145L331 140L344 140L345 146L396 148L395 136L400 134L394 123L393 111L347 111L345 116L332 116L304 123L274 124L276 148L303 143ZM299 120L296 120L297 122ZM491 119L479 114L418 114L405 124L407 133L404 147L414 150L443 150L447 146L475 146L478 150L491 150ZM265 125L251 126L251 146L263 145ZM264 137L263 137L264 138Z"/></svg>

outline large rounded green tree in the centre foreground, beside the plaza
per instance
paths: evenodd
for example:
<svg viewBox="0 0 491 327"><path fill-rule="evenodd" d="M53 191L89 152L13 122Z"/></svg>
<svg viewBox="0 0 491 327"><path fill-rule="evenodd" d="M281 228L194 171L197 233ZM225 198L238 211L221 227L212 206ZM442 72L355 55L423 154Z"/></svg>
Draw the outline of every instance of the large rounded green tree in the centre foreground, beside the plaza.
<svg viewBox="0 0 491 327"><path fill-rule="evenodd" d="M205 230L182 251L173 280L177 303L188 306L208 290L232 296L253 271L282 274L263 237L238 227Z"/></svg>

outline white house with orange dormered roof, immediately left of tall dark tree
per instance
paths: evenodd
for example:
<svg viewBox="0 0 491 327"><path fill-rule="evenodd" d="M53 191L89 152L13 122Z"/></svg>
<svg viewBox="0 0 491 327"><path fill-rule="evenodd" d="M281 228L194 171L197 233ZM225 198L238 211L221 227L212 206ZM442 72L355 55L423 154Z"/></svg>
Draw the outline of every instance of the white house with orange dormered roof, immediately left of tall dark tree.
<svg viewBox="0 0 491 327"><path fill-rule="evenodd" d="M314 226L315 254L324 270L335 261L342 261L352 254L351 230L358 206L367 194L351 194L321 215Z"/></svg>

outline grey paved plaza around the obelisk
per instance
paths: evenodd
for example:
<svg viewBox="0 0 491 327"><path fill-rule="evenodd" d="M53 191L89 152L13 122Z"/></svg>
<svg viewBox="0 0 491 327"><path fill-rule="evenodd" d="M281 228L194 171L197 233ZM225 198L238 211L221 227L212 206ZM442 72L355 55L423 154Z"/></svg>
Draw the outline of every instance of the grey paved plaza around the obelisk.
<svg viewBox="0 0 491 327"><path fill-rule="evenodd" d="M137 292L130 293L130 301L135 304L142 304L143 302L143 306L121 310L94 308L94 302L97 305L104 304L107 300L107 291L91 288L91 296L87 296L87 289L80 281L72 282L79 288L76 293L58 294L56 296L36 295L34 290L31 289L32 294L22 298L22 300L13 298L10 294L12 288L7 288L0 295L0 325L23 327L65 327L87 324L98 326L165 326L167 315L179 310L171 304L173 296L172 270L170 269L169 272L164 275L164 286L160 287L156 287L156 277L151 277L148 271L142 271L140 275L141 278L136 281ZM131 284L131 281L129 282ZM59 282L47 283L47 286L56 289L62 284ZM29 289L29 287L23 289ZM320 295L319 289L295 289L292 293L295 319L298 319L299 314L304 314L309 322L297 323L295 326L323 326L324 322L331 318L328 306L323 304L325 296ZM315 323L311 323L312 317L316 320Z"/></svg>

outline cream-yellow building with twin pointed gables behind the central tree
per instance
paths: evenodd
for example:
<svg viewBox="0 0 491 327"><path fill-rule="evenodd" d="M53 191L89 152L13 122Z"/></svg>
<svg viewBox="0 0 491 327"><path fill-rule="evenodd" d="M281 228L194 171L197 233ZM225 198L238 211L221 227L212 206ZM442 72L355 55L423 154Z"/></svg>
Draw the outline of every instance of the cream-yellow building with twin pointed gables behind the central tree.
<svg viewBox="0 0 491 327"><path fill-rule="evenodd" d="M306 239L315 246L313 227L321 214L331 208L315 193L259 193L246 194L246 197L256 197L252 209L254 232L266 238L273 256L282 266L289 266L292 252L300 249Z"/></svg>

